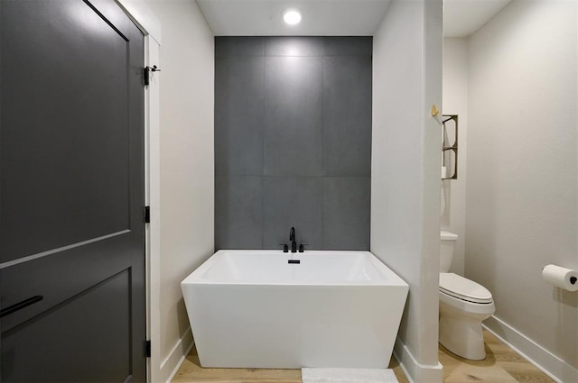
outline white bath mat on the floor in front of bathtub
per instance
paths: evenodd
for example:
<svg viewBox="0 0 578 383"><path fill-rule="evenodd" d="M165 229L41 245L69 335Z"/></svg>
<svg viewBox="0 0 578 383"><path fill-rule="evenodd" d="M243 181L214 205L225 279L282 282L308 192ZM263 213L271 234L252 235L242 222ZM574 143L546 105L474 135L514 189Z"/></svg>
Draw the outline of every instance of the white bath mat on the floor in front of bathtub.
<svg viewBox="0 0 578 383"><path fill-rule="evenodd" d="M301 369L303 383L398 383L393 369Z"/></svg>

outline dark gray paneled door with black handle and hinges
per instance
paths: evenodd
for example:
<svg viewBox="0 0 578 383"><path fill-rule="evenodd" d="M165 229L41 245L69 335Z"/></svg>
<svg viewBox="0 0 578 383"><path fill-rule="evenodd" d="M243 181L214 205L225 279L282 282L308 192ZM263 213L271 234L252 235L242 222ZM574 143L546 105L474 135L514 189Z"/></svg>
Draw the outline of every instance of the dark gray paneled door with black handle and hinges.
<svg viewBox="0 0 578 383"><path fill-rule="evenodd" d="M2 382L145 381L144 38L0 0Z"/></svg>

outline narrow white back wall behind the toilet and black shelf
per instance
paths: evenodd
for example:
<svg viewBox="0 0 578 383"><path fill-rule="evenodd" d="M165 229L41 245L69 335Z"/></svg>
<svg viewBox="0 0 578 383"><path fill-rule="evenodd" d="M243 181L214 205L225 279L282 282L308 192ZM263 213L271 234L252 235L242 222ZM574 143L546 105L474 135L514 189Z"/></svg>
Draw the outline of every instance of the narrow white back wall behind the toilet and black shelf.
<svg viewBox="0 0 578 383"><path fill-rule="evenodd" d="M458 114L458 179L442 181L442 230L458 234L451 272L463 275L468 137L468 41L443 39L443 114Z"/></svg>

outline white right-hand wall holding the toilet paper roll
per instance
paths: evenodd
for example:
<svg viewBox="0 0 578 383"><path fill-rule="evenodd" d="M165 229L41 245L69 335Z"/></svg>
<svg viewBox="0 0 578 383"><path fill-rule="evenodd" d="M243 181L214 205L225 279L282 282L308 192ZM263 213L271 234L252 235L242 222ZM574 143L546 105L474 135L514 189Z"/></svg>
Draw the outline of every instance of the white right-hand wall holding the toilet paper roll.
<svg viewBox="0 0 578 383"><path fill-rule="evenodd" d="M578 381L577 3L517 1L470 38L465 275L496 302L491 329Z"/></svg>

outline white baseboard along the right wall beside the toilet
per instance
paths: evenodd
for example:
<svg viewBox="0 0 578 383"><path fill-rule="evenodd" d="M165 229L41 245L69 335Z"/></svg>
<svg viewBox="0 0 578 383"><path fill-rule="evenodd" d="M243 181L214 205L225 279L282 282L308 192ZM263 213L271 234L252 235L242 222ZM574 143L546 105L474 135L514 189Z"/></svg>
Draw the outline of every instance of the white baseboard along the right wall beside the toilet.
<svg viewBox="0 0 578 383"><path fill-rule="evenodd" d="M483 326L556 382L578 382L578 369L574 369L499 318L491 316L484 321Z"/></svg>

